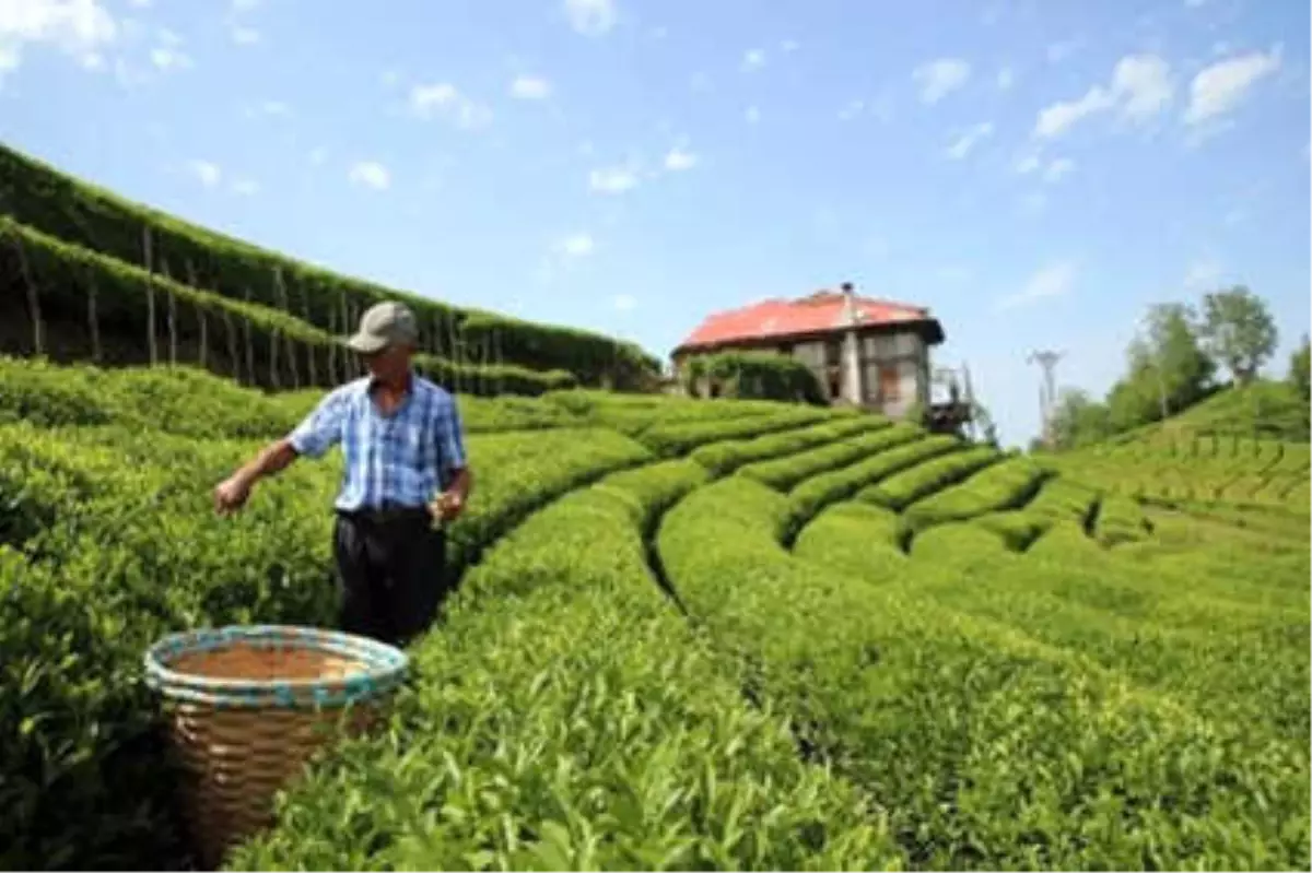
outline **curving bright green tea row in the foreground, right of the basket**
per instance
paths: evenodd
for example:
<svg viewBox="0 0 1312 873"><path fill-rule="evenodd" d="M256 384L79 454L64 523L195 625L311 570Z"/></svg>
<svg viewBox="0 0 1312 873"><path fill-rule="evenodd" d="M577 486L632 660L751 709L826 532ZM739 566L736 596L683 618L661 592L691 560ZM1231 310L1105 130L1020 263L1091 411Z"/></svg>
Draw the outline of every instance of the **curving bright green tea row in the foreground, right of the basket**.
<svg viewBox="0 0 1312 873"><path fill-rule="evenodd" d="M707 478L627 471L534 515L416 648L392 735L348 746L235 870L760 868L891 860L648 573L643 530ZM356 798L367 796L367 802Z"/></svg>

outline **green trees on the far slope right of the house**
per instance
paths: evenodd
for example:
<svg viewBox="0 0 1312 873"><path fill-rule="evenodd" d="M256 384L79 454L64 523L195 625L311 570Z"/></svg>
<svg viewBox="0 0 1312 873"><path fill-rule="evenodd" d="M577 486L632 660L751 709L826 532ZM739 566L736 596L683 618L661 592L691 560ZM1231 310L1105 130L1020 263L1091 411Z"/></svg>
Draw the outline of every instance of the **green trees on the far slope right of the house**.
<svg viewBox="0 0 1312 873"><path fill-rule="evenodd" d="M1048 423L1051 448L1077 448L1174 416L1224 388L1260 380L1279 329L1266 301L1245 286L1204 294L1198 305L1149 307L1126 350L1126 372L1102 400L1063 388ZM1290 383L1312 401L1312 340L1290 360Z"/></svg>

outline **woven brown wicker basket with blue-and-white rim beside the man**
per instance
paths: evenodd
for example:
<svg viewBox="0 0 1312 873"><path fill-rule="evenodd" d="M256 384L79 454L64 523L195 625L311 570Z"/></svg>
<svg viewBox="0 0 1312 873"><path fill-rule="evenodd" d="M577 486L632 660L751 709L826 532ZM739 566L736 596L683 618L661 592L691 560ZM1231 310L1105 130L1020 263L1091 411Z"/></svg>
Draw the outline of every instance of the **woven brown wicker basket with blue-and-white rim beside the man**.
<svg viewBox="0 0 1312 873"><path fill-rule="evenodd" d="M255 625L164 637L146 653L207 869L272 823L273 797L335 737L367 730L409 666L363 637Z"/></svg>

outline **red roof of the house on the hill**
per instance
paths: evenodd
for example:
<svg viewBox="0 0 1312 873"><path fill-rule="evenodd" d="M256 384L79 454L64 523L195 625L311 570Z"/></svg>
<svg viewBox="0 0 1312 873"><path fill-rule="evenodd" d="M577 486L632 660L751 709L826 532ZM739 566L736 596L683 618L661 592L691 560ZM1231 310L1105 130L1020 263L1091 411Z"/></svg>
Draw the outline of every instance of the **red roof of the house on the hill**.
<svg viewBox="0 0 1312 873"><path fill-rule="evenodd" d="M926 321L929 309L890 300L854 296L862 325ZM741 309L715 312L694 330L680 349L732 345L747 340L825 333L846 326L844 295L817 291L800 300L762 300Z"/></svg>

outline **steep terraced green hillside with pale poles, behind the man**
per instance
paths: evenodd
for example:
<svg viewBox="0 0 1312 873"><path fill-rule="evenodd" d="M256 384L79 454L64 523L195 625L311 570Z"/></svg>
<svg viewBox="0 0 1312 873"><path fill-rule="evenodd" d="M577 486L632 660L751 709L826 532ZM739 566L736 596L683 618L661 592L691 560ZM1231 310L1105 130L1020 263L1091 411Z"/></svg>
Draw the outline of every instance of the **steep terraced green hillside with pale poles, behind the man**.
<svg viewBox="0 0 1312 873"><path fill-rule="evenodd" d="M239 329L251 324L255 336L244 338L248 370L277 371L270 343L321 343L349 333L369 305L401 299L424 326L425 351L443 362L438 367L563 371L586 387L619 388L642 387L660 371L656 358L630 342L340 275L129 202L0 144L4 216L0 353L155 363L174 360L167 351L156 354L155 343L176 349L181 340L185 363L210 366L230 351L237 358L237 340L222 336L220 324L227 322L206 322L198 317L203 312L226 315ZM171 308L177 304L180 313ZM35 349L42 328L34 329L34 322L45 328L49 350ZM213 334L209 342L205 333ZM197 345L209 354L202 357ZM283 351L298 354L304 357L299 347ZM232 374L230 360L223 375ZM279 384L286 381L283 376Z"/></svg>

